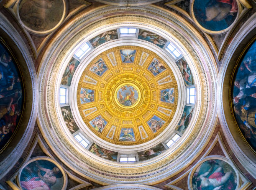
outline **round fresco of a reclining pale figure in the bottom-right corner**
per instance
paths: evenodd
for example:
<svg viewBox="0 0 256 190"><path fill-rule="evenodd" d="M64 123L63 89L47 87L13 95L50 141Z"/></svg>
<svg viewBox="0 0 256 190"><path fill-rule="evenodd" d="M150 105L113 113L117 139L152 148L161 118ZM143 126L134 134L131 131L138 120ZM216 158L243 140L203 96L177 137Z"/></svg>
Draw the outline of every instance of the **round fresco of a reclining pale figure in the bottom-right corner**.
<svg viewBox="0 0 256 190"><path fill-rule="evenodd" d="M235 190L236 172L226 162L207 160L197 167L192 176L193 190Z"/></svg>

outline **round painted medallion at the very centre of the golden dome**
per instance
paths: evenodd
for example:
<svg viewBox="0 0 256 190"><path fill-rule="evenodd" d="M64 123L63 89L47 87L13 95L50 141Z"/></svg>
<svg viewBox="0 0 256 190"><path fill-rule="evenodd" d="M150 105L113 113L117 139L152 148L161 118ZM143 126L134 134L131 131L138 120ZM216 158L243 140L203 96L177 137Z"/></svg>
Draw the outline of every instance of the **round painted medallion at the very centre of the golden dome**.
<svg viewBox="0 0 256 190"><path fill-rule="evenodd" d="M131 106L138 100L138 91L130 85L120 87L117 92L118 102L124 106Z"/></svg>

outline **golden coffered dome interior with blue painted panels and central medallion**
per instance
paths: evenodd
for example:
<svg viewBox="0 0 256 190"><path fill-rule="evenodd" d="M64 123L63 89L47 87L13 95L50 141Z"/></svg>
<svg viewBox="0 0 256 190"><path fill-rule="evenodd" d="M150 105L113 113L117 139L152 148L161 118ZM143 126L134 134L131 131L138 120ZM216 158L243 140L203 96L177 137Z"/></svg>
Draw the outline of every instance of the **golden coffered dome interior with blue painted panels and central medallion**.
<svg viewBox="0 0 256 190"><path fill-rule="evenodd" d="M113 47L97 55L77 88L83 127L116 145L138 145L160 135L172 121L177 101L170 67L138 46Z"/></svg>

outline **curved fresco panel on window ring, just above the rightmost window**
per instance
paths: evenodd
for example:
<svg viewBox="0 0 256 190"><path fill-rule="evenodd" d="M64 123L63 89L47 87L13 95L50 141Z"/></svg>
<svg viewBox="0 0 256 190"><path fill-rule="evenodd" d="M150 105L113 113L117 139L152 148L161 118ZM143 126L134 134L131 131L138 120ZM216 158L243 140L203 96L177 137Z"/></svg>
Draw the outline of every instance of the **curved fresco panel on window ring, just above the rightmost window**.
<svg viewBox="0 0 256 190"><path fill-rule="evenodd" d="M194 85L194 79L191 73L191 70L184 59L182 57L180 60L176 62L177 66L179 67L180 72L182 73L183 80L185 82L185 85Z"/></svg>

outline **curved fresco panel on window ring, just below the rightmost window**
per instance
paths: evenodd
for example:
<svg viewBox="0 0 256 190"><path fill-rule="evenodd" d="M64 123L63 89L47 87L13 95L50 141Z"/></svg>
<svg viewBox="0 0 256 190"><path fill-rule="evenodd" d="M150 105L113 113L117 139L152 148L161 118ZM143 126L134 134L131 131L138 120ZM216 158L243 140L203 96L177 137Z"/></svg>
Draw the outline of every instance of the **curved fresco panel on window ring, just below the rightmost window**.
<svg viewBox="0 0 256 190"><path fill-rule="evenodd" d="M182 118L180 119L178 126L176 128L176 130L179 131L179 133L183 134L187 129L189 122L191 121L193 111L194 107L185 105Z"/></svg>

